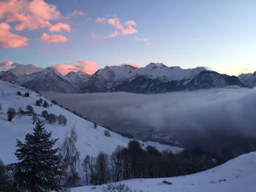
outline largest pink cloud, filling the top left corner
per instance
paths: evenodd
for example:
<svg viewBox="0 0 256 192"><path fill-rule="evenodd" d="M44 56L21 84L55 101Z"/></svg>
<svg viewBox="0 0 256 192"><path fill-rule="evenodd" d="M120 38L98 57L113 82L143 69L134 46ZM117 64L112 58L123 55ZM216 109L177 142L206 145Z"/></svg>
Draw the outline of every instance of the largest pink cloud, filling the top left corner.
<svg viewBox="0 0 256 192"><path fill-rule="evenodd" d="M22 31L25 28L34 30L37 28L53 28L52 31L62 28L70 31L69 26L52 25L50 20L63 18L55 5L47 4L43 0L7 0L0 1L0 19L5 18L5 23L15 22L15 30Z"/></svg>

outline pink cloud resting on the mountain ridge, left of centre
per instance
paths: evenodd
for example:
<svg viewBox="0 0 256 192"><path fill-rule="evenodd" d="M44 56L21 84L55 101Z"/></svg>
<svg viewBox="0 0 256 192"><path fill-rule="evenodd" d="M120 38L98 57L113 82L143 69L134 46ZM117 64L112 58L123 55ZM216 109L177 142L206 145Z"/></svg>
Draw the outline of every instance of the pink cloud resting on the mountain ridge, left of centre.
<svg viewBox="0 0 256 192"><path fill-rule="evenodd" d="M94 74L97 71L98 64L92 61L76 61L72 64L55 64L53 69L56 69L57 72L60 72L63 75L68 74L69 72L85 72L87 74Z"/></svg>

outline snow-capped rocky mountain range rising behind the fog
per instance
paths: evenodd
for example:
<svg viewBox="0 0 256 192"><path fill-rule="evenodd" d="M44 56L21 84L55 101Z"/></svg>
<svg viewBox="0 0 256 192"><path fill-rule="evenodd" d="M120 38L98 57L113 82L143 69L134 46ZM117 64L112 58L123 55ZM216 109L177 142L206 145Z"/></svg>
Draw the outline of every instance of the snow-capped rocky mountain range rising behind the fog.
<svg viewBox="0 0 256 192"><path fill-rule="evenodd" d="M256 73L239 77L219 74L204 67L181 69L151 63L145 67L129 65L105 66L92 75L84 72L69 72L62 75L48 67L32 74L0 72L0 79L31 88L34 91L59 93L166 93L170 91L193 91L206 88L255 86Z"/></svg>

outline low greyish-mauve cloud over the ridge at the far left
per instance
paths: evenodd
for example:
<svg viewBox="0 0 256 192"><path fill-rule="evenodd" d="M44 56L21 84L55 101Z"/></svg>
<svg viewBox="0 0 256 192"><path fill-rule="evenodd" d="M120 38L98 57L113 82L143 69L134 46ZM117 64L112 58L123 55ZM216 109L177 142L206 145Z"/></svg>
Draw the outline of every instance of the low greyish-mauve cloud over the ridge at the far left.
<svg viewBox="0 0 256 192"><path fill-rule="evenodd" d="M33 72L42 71L42 67L37 66L36 64L18 64L12 61L4 61L0 63L0 68L9 70L12 73L18 74L30 74Z"/></svg>

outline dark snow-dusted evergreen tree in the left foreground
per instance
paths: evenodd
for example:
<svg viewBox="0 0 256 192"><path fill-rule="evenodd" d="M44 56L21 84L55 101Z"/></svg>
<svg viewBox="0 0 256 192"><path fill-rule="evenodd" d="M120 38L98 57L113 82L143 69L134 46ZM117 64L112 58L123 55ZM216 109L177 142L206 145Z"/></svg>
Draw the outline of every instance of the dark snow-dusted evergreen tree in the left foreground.
<svg viewBox="0 0 256 192"><path fill-rule="evenodd" d="M15 155L15 180L19 191L45 192L56 190L56 177L59 174L59 148L53 149L58 139L51 139L51 132L45 130L38 120L32 134L26 134L25 143L17 140Z"/></svg>

